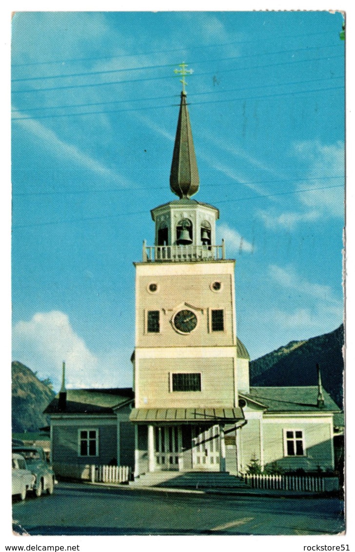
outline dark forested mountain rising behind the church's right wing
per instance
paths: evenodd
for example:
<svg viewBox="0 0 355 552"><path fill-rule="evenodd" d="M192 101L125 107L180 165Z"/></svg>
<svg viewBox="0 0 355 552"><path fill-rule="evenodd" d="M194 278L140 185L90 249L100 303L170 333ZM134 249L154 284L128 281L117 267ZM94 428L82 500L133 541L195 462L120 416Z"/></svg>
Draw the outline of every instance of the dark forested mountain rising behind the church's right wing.
<svg viewBox="0 0 355 552"><path fill-rule="evenodd" d="M250 384L255 386L317 385L318 363L322 385L338 406L343 406L344 327L312 337L291 341L250 363Z"/></svg>

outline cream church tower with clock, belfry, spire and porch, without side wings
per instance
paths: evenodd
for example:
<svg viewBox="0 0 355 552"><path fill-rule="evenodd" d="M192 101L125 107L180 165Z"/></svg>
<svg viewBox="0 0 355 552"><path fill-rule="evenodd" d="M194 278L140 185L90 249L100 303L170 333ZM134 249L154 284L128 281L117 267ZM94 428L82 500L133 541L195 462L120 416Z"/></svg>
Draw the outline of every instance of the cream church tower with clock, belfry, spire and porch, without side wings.
<svg viewBox="0 0 355 552"><path fill-rule="evenodd" d="M170 187L179 199L152 209L155 245L144 242L135 263L135 475L235 472L248 355L236 337L235 261L216 243L219 210L190 199L199 176L184 89Z"/></svg>

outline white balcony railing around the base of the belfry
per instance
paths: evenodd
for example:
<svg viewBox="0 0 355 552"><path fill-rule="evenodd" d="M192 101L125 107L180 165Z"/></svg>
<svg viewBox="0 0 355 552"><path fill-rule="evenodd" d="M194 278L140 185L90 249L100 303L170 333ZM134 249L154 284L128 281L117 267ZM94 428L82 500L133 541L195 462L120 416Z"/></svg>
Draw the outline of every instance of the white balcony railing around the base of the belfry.
<svg viewBox="0 0 355 552"><path fill-rule="evenodd" d="M143 242L143 262L194 262L225 259L225 245L155 245Z"/></svg>

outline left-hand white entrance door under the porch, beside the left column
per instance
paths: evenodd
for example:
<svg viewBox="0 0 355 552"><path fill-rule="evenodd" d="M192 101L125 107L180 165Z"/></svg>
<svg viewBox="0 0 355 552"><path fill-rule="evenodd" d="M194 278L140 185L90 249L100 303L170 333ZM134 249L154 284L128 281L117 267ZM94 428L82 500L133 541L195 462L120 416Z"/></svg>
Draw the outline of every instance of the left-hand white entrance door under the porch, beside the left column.
<svg viewBox="0 0 355 552"><path fill-rule="evenodd" d="M181 426L155 428L156 468L158 470L182 469Z"/></svg>

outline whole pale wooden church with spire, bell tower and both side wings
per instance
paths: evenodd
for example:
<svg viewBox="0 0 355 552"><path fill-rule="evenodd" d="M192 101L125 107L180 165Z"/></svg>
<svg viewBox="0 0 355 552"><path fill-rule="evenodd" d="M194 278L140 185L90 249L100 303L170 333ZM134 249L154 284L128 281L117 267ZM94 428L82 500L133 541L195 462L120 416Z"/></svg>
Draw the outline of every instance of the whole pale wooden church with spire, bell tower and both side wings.
<svg viewBox="0 0 355 552"><path fill-rule="evenodd" d="M62 390L46 412L59 475L92 464L158 471L246 473L332 471L340 409L322 389L249 383L249 355L237 337L235 260L216 243L219 210L191 199L198 167L181 93L170 188L151 210L154 245L135 262L132 389ZM227 246L227 244L226 244Z"/></svg>

